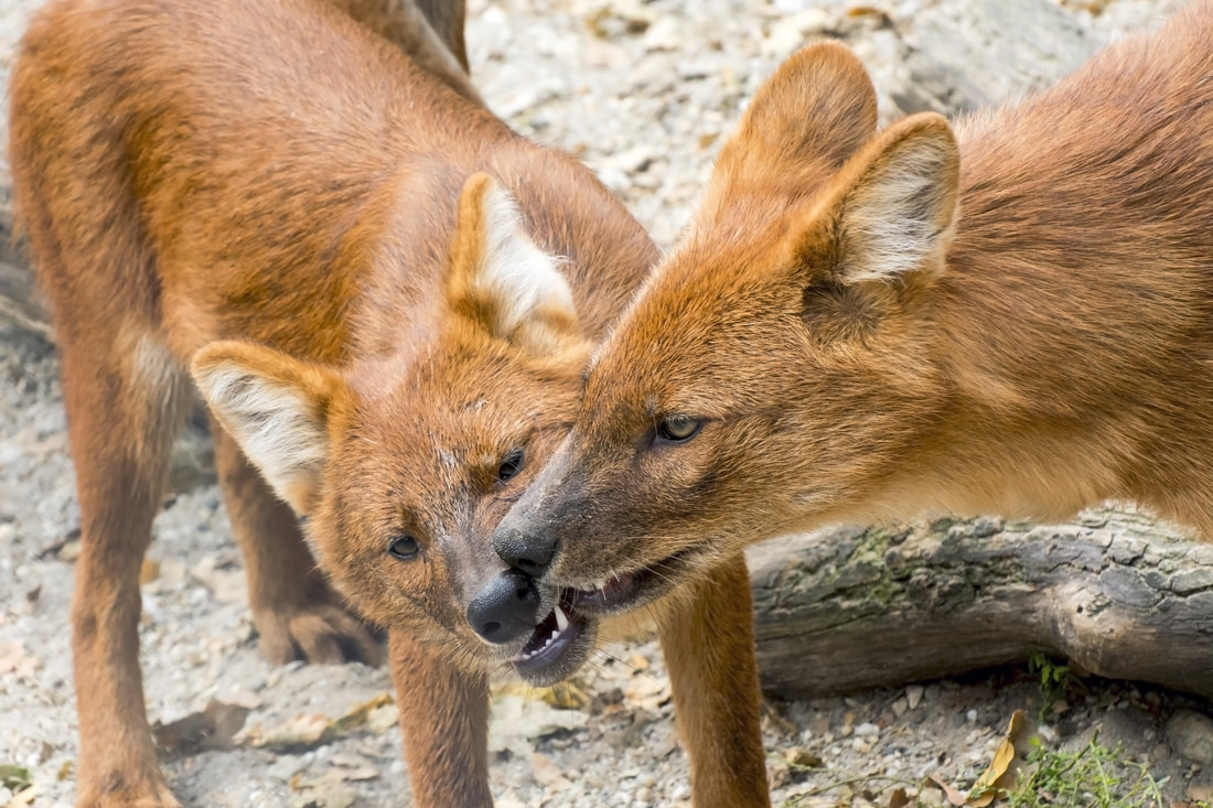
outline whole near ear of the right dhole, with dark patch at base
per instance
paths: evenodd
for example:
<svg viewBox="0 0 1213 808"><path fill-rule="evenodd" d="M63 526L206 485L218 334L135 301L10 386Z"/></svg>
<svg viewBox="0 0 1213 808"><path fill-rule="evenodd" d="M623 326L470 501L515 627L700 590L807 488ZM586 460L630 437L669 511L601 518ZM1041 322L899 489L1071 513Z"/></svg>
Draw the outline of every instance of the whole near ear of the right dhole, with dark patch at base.
<svg viewBox="0 0 1213 808"><path fill-rule="evenodd" d="M830 338L862 334L943 271L955 231L959 150L922 113L855 154L795 221L787 245L805 320Z"/></svg>

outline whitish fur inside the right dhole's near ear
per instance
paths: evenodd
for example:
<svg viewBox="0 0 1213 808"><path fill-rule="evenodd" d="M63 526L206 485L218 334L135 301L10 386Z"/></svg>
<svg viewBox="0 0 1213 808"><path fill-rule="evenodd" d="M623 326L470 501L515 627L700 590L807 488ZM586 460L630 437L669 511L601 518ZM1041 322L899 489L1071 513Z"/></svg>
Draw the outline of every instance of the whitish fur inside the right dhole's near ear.
<svg viewBox="0 0 1213 808"><path fill-rule="evenodd" d="M959 158L943 119L887 146L838 215L843 283L889 280L943 257L956 218Z"/></svg>

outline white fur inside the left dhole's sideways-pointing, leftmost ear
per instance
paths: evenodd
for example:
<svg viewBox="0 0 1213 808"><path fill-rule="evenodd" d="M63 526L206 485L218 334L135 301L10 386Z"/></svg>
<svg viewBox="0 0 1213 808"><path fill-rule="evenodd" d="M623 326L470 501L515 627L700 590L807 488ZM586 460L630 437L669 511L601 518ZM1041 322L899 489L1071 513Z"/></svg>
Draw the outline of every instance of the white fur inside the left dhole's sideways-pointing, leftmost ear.
<svg viewBox="0 0 1213 808"><path fill-rule="evenodd" d="M329 454L324 403L303 386L234 358L195 359L193 375L249 461L283 500L307 514Z"/></svg>

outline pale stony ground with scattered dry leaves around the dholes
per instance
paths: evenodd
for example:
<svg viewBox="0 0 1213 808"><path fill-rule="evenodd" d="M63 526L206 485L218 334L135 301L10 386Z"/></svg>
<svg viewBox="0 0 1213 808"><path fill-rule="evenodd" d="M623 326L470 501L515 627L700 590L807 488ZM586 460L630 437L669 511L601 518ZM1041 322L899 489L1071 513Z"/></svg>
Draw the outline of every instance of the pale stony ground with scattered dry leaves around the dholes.
<svg viewBox="0 0 1213 808"><path fill-rule="evenodd" d="M763 78L807 39L850 44L872 72L889 120L1047 80L1177 4L469 5L473 74L492 108L529 136L582 157L668 245L721 136ZM0 69L7 70L7 50L35 6L0 1ZM0 338L0 806L67 806L73 793L67 615L78 514L56 374L45 343L16 331ZM173 787L195 806L409 804L387 672L264 664L205 457L178 463L175 488L143 587L148 710L173 722L213 700L227 705L212 710L227 730L212 741L217 749L166 761ZM1208 705L1063 678L1067 688L1042 688L1036 673L1001 670L848 698L773 696L765 742L776 804L907 804L902 797L941 804L943 784L967 790L990 764L1016 710L1035 717L1042 706L1046 749L1082 749L1098 730L1101 744L1123 745L1118 759L1139 762L1162 781L1154 804L1209 798L1213 722L1200 715ZM651 642L614 649L552 693L503 684L492 732L499 806L689 804L687 761ZM166 739L178 735L172 729ZM939 784L924 780L930 775Z"/></svg>

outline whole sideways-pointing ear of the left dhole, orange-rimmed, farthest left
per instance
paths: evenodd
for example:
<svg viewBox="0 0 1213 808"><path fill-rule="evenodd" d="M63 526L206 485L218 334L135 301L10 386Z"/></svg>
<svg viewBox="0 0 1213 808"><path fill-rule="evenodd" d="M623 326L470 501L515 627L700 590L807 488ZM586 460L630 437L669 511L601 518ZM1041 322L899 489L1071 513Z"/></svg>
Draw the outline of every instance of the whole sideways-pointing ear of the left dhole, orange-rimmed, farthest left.
<svg viewBox="0 0 1213 808"><path fill-rule="evenodd" d="M296 513L317 505L329 415L346 389L331 370L247 342L212 342L190 372L203 398L266 482Z"/></svg>

